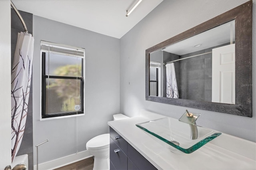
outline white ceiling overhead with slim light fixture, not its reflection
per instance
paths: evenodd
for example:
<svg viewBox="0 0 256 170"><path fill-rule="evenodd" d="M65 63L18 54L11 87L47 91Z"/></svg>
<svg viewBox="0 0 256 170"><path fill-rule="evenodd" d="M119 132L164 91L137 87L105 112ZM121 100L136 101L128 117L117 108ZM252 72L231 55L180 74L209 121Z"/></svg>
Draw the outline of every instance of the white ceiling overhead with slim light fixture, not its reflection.
<svg viewBox="0 0 256 170"><path fill-rule="evenodd" d="M18 10L93 32L122 38L163 0L12 0Z"/></svg>

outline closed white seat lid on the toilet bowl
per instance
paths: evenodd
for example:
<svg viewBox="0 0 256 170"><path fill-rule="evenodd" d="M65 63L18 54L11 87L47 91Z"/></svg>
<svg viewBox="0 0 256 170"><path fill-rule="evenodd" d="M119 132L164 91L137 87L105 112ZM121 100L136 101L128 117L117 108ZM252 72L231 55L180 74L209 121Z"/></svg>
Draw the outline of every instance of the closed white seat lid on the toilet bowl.
<svg viewBox="0 0 256 170"><path fill-rule="evenodd" d="M96 136L86 143L86 148L91 150L108 148L110 140L109 137L109 133Z"/></svg>

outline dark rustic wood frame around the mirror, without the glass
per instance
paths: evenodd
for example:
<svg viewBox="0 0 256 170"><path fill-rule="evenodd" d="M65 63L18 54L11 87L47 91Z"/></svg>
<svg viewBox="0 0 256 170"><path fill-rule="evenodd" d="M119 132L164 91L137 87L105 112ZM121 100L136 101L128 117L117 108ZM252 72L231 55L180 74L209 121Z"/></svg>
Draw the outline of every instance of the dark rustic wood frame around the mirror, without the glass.
<svg viewBox="0 0 256 170"><path fill-rule="evenodd" d="M200 34L206 30L210 30L216 26L220 26L221 24L231 20L235 20L236 35L235 105L188 99L171 99L167 97L156 97L149 95L150 53L190 38L196 34ZM191 28L181 34L178 34L177 36L174 36L162 43L146 49L146 100L208 111L228 113L232 115L252 117L252 0L232 10L229 10L228 12L216 16L215 18L212 18L198 26L195 26L194 28Z"/></svg>

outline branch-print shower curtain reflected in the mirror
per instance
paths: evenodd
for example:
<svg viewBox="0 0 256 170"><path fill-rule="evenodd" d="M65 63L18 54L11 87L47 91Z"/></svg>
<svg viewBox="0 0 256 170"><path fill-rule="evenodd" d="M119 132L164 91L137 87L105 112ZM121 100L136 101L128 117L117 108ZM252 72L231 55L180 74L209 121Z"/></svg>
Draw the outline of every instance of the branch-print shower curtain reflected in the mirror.
<svg viewBox="0 0 256 170"><path fill-rule="evenodd" d="M178 86L174 63L168 63L166 66L166 97L179 98Z"/></svg>

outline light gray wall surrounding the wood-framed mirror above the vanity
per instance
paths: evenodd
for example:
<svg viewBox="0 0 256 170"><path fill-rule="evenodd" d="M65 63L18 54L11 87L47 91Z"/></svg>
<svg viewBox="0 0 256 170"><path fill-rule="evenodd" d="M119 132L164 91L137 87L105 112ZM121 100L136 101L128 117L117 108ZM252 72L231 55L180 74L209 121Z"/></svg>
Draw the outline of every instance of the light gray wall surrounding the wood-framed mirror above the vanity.
<svg viewBox="0 0 256 170"><path fill-rule="evenodd" d="M147 109L179 119L188 109L201 113L198 125L256 142L256 105L253 117L242 117L145 100L145 50L247 0L164 0L120 42L120 111L128 116ZM253 0L252 101L256 100L256 0ZM133 69L131 69L133 68ZM130 84L129 84L130 82Z"/></svg>

